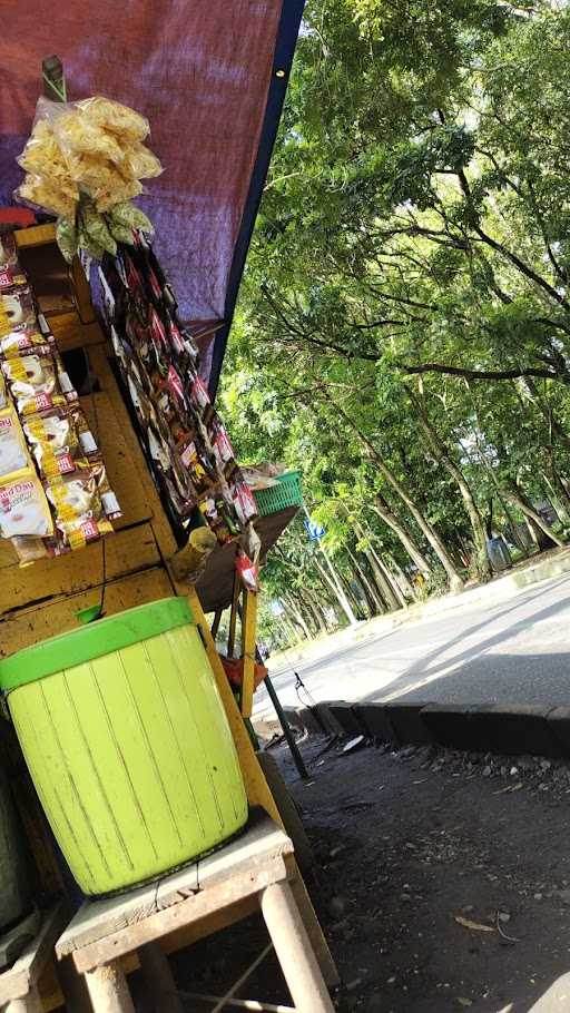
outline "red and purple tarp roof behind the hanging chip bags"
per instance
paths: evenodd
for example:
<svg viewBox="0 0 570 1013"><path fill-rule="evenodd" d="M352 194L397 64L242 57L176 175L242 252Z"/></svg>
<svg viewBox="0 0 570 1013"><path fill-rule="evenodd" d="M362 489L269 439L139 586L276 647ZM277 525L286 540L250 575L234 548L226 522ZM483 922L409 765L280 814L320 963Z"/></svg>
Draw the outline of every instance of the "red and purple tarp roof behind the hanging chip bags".
<svg viewBox="0 0 570 1013"><path fill-rule="evenodd" d="M287 0L285 0L287 2ZM0 32L0 203L41 91L62 61L68 98L106 95L148 117L165 171L141 201L181 316L224 316L265 112L282 0L22 0Z"/></svg>

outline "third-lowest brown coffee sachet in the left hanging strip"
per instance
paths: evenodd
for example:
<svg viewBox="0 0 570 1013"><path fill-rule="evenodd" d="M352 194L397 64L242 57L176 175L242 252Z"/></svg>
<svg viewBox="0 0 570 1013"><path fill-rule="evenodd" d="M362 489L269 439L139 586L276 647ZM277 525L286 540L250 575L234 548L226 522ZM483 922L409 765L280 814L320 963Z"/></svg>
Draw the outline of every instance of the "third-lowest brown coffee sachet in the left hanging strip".
<svg viewBox="0 0 570 1013"><path fill-rule="evenodd" d="M69 376L57 353L40 348L2 363L2 371L20 415L33 415L77 401Z"/></svg>

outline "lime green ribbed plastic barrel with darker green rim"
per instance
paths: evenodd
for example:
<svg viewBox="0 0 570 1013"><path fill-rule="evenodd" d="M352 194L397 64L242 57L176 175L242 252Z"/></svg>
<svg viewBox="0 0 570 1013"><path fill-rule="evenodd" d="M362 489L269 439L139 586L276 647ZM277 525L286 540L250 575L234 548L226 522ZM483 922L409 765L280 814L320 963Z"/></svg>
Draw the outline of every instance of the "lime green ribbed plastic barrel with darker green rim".
<svg viewBox="0 0 570 1013"><path fill-rule="evenodd" d="M83 893L156 878L244 826L234 740L185 598L12 655L0 687Z"/></svg>

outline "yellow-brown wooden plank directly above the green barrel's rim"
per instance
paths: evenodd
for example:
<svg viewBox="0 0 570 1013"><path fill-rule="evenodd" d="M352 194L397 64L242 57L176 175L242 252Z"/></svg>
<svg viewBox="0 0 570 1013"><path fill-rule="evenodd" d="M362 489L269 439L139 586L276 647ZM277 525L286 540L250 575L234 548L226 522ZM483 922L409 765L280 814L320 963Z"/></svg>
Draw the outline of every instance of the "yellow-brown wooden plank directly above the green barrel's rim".
<svg viewBox="0 0 570 1013"><path fill-rule="evenodd" d="M52 637L77 629L77 612L97 604L101 600L101 587L81 591L67 598L58 598L38 608L16 612L0 621L0 656L29 647ZM121 578L107 584L105 591L105 614L114 616L125 609L132 609L159 598L176 593L163 567L153 567L131 577Z"/></svg>

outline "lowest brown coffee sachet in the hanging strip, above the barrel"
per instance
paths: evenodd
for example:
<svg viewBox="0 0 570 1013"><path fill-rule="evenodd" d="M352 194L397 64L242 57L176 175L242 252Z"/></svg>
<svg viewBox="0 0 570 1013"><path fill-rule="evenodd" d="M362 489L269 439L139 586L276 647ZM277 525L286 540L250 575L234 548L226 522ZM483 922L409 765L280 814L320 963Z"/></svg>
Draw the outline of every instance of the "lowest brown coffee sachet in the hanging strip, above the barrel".
<svg viewBox="0 0 570 1013"><path fill-rule="evenodd" d="M110 533L110 521L120 517L119 504L109 488L102 464L71 478L48 482L46 493L53 506L56 527L63 544L72 550Z"/></svg>

